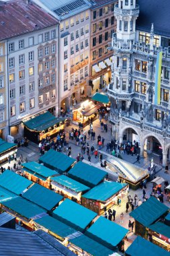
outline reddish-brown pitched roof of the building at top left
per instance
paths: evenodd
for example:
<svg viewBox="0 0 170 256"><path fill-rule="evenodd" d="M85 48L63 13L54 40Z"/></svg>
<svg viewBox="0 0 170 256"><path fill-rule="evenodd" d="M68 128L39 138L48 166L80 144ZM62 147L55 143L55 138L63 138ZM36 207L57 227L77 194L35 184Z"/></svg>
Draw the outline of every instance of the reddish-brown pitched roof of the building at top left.
<svg viewBox="0 0 170 256"><path fill-rule="evenodd" d="M1 3L0 40L56 24L58 24L56 19L32 2L27 4L24 0L13 0Z"/></svg>

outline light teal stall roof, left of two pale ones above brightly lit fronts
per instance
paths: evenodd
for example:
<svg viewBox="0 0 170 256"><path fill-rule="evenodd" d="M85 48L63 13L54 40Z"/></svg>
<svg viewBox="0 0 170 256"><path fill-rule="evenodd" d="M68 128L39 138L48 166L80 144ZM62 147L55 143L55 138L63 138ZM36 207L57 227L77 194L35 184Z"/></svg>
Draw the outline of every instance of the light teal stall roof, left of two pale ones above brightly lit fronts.
<svg viewBox="0 0 170 256"><path fill-rule="evenodd" d="M57 174L55 170L51 170L42 164L38 164L38 162L27 162L22 164L22 166L24 166L26 171L31 170L32 174L39 174L40 176L45 177L46 179L48 177L51 177L52 175Z"/></svg>

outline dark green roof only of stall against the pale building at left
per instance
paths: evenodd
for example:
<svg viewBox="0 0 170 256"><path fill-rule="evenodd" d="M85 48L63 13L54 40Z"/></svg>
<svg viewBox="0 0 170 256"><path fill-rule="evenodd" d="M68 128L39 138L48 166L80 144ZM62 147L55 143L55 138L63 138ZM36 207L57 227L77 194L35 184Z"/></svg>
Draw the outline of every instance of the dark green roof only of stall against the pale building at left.
<svg viewBox="0 0 170 256"><path fill-rule="evenodd" d="M52 127L64 120L65 118L56 118L50 112L47 111L46 113L40 114L23 123L24 123L24 126L26 126L30 130L44 131L49 127Z"/></svg>

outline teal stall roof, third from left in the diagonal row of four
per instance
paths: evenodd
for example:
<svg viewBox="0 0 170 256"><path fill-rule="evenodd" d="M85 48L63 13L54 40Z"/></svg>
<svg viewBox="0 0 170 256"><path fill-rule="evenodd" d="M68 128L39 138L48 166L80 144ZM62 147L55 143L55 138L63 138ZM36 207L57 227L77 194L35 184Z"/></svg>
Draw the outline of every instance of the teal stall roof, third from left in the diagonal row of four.
<svg viewBox="0 0 170 256"><path fill-rule="evenodd" d="M53 212L54 218L83 231L97 214L78 203L65 199Z"/></svg>

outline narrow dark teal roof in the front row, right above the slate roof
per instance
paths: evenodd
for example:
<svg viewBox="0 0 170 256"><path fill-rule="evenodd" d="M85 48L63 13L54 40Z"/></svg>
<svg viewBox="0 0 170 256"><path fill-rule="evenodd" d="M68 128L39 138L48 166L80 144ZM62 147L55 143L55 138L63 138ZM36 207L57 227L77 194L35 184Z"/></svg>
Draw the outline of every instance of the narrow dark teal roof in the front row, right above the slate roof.
<svg viewBox="0 0 170 256"><path fill-rule="evenodd" d="M71 228L67 224L62 223L59 220L56 220L55 218L52 218L50 216L44 216L38 220L35 220L35 222L62 238L65 238L77 232L77 230L75 230L74 228Z"/></svg>

